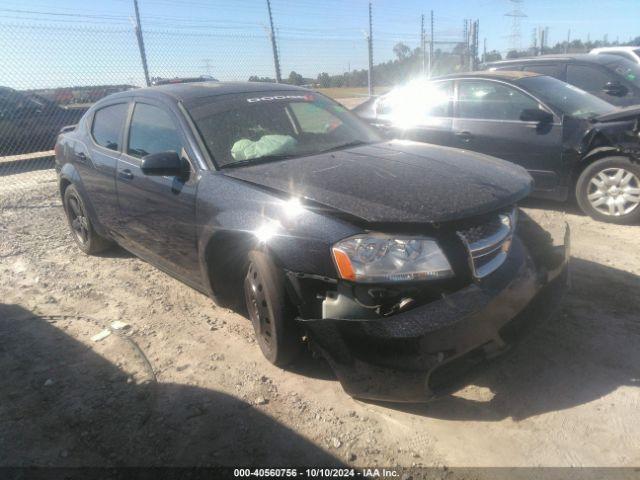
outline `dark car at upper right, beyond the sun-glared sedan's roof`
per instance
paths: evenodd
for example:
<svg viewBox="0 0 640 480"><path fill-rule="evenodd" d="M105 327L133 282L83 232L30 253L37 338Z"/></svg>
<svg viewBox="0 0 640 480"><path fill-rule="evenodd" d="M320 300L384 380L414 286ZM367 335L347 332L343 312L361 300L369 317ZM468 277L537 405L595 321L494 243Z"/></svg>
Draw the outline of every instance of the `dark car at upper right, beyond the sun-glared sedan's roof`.
<svg viewBox="0 0 640 480"><path fill-rule="evenodd" d="M549 75L619 107L640 104L640 65L619 55L541 55L491 62L485 67Z"/></svg>

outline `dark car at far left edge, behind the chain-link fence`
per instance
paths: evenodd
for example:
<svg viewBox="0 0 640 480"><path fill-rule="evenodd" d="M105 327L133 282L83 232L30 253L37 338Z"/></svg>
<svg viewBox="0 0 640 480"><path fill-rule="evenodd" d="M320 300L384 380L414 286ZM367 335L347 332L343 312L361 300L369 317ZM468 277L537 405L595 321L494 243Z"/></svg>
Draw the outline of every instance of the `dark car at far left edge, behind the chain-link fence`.
<svg viewBox="0 0 640 480"><path fill-rule="evenodd" d="M76 123L85 112L0 87L0 156L53 150L60 129Z"/></svg>

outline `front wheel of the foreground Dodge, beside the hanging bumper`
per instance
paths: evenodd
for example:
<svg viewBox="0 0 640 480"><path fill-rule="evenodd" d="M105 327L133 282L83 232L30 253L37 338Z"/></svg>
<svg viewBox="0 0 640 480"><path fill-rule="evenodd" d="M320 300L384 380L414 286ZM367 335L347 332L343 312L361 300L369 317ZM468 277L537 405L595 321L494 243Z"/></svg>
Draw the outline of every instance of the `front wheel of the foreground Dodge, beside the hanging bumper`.
<svg viewBox="0 0 640 480"><path fill-rule="evenodd" d="M263 252L249 252L244 294L263 355L274 365L288 365L300 353L302 342L287 301L284 275Z"/></svg>

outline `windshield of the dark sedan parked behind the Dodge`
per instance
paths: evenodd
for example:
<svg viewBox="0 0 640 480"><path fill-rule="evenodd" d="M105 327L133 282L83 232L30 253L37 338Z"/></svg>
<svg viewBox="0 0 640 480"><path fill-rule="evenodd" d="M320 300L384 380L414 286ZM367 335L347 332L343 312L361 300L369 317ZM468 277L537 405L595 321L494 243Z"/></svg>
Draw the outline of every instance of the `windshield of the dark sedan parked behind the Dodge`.
<svg viewBox="0 0 640 480"><path fill-rule="evenodd" d="M518 84L550 106L576 118L596 117L616 108L578 87L552 77L523 78Z"/></svg>

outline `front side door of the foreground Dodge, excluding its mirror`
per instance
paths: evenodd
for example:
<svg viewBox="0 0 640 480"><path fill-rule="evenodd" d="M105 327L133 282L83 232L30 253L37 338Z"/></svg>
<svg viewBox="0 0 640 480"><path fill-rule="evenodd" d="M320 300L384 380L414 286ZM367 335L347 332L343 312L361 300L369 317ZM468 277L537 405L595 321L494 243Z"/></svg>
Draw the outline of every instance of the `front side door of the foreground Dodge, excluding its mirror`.
<svg viewBox="0 0 640 480"><path fill-rule="evenodd" d="M190 164L189 175L148 176L146 155L173 151ZM169 105L136 99L127 125L116 185L122 241L191 283L200 282L195 202L198 172L178 115Z"/></svg>

